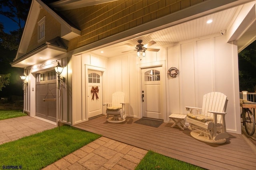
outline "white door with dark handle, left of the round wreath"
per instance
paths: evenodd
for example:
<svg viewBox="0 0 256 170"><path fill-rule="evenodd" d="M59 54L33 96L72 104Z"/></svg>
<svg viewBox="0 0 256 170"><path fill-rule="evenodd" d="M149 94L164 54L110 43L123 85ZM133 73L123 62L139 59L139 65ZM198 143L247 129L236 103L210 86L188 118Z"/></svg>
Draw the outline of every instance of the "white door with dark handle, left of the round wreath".
<svg viewBox="0 0 256 170"><path fill-rule="evenodd" d="M142 117L164 119L164 72L162 66L141 69Z"/></svg>

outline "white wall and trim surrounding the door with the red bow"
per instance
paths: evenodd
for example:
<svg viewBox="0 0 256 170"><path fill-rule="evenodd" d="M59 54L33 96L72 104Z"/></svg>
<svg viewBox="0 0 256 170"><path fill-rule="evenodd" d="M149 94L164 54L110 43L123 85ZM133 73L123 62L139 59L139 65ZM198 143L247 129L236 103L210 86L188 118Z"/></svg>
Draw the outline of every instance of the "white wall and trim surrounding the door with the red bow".
<svg viewBox="0 0 256 170"><path fill-rule="evenodd" d="M86 69L99 70L102 72L102 84L106 84L106 62L103 57L95 57L89 54L76 55L72 57L72 124L87 121L86 113ZM88 65L88 68L86 68ZM105 77L104 77L105 76ZM102 86L102 93L106 87ZM87 95L88 96L88 95ZM104 101L104 95L102 97ZM87 111L88 112L88 111Z"/></svg>

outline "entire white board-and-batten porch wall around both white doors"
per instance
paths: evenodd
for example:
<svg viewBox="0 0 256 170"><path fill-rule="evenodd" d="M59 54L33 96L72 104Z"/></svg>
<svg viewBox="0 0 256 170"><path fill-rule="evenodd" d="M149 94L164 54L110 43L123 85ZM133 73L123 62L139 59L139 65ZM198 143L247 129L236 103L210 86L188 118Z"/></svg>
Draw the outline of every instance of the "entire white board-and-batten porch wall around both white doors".
<svg viewBox="0 0 256 170"><path fill-rule="evenodd" d="M73 91L73 119L75 122L85 116L82 104L81 89L84 76L81 74L84 64L106 68L103 75L103 103L112 101L114 92L125 93L126 115L128 117L142 117L141 114L141 72L140 64L154 64L160 61L165 65L166 79L166 116L171 113L186 114L185 106L202 107L202 97L208 92L222 92L228 97L226 127L228 132L240 133L238 117L240 114L238 83L238 54L236 45L226 43L226 36L211 35L184 41L161 48L159 52L147 53L146 58L137 59L131 53L104 59L83 54L73 57L73 78L76 87ZM75 58L75 60L74 60ZM234 66L233 66L234 64ZM176 67L179 75L176 78L167 76L170 67ZM79 70L80 69L80 70ZM76 74L76 72L78 72ZM79 73L80 72L80 73ZM75 73L75 74L74 74ZM233 76L231 76L233 75ZM82 79L82 80L81 80ZM76 108L74 108L76 107ZM168 121L166 119L166 121Z"/></svg>

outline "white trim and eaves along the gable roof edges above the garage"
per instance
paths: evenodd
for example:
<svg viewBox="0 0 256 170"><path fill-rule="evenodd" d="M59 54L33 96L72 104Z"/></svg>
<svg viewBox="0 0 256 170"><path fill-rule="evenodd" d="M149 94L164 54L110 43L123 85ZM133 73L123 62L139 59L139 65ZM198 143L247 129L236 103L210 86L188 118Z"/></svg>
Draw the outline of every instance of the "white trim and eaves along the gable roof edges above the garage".
<svg viewBox="0 0 256 170"><path fill-rule="evenodd" d="M50 9L41 0L32 0L30 11L28 13L28 18L20 41L20 46L18 48L18 52L16 54L14 61L26 55L30 39L32 37L32 33L34 31L40 10L42 8L44 8L61 24L61 38L70 40L74 37L81 35L81 31L77 27L75 27L73 24L70 24L70 21L66 21L62 17L60 17L58 14L56 14L56 12Z"/></svg>

